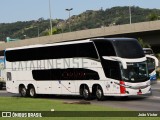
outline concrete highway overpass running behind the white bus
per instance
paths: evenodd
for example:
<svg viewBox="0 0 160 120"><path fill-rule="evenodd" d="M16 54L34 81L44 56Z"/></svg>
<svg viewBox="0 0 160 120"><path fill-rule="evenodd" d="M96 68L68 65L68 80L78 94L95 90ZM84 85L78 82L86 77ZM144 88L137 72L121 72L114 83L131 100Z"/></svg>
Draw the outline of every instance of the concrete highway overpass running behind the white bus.
<svg viewBox="0 0 160 120"><path fill-rule="evenodd" d="M140 22L96 29L81 30L69 33L56 34L51 36L37 37L19 41L12 41L0 44L0 50L19 46L34 44L46 44L69 40L79 40L95 37L133 37L142 38L151 44L156 50L160 51L160 20L150 22Z"/></svg>

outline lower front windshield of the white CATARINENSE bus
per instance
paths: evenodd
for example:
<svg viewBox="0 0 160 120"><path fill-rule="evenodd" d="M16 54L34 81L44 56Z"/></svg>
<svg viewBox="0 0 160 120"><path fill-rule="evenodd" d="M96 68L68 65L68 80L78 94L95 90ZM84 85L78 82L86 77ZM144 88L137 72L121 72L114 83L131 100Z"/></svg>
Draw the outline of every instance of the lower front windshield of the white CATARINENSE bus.
<svg viewBox="0 0 160 120"><path fill-rule="evenodd" d="M121 70L122 79L126 82L144 82L149 79L146 62L127 63L127 69Z"/></svg>

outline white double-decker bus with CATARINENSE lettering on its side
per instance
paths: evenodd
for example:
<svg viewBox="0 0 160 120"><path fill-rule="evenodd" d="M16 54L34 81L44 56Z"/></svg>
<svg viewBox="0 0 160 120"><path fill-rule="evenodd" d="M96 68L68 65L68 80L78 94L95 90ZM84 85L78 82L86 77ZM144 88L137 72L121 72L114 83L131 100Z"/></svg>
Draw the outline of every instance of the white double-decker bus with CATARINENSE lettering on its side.
<svg viewBox="0 0 160 120"><path fill-rule="evenodd" d="M37 94L131 96L151 93L147 59L136 39L93 38L9 48L6 89Z"/></svg>

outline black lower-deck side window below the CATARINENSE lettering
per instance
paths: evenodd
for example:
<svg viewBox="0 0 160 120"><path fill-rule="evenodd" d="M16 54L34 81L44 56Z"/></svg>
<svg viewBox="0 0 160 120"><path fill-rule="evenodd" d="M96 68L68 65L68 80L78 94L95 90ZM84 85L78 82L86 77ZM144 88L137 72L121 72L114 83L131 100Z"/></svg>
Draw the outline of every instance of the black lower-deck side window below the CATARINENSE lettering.
<svg viewBox="0 0 160 120"><path fill-rule="evenodd" d="M40 80L98 80L96 71L83 68L33 70L33 79Z"/></svg>

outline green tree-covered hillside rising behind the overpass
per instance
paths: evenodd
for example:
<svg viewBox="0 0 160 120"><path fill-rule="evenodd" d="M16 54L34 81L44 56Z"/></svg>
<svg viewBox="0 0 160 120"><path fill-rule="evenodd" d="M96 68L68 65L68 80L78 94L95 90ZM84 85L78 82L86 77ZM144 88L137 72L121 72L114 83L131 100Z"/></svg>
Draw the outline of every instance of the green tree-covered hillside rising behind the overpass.
<svg viewBox="0 0 160 120"><path fill-rule="evenodd" d="M159 9L144 9L132 6L132 23L160 19ZM73 15L68 20L55 19L53 34L71 31L98 28L103 26L121 25L129 23L129 7L113 7L110 9L87 10L79 15ZM15 23L0 23L0 41L6 37L25 39L49 35L49 19L39 18L33 21L18 21Z"/></svg>

